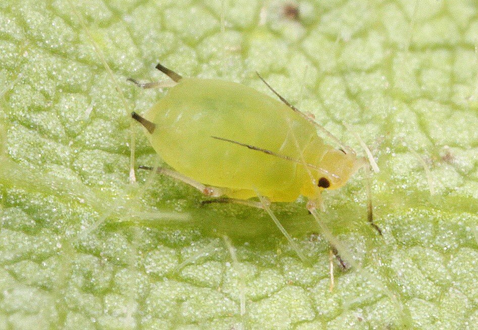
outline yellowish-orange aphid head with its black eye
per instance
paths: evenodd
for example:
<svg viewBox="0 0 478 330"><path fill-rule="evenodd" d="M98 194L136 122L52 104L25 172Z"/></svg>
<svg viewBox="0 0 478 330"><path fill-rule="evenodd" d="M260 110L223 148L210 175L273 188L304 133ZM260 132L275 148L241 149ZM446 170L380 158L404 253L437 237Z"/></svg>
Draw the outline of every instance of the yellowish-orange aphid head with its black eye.
<svg viewBox="0 0 478 330"><path fill-rule="evenodd" d="M337 189L343 186L350 176L357 170L355 153L339 149L329 149L317 164L322 171L318 171L317 186L323 189Z"/></svg>

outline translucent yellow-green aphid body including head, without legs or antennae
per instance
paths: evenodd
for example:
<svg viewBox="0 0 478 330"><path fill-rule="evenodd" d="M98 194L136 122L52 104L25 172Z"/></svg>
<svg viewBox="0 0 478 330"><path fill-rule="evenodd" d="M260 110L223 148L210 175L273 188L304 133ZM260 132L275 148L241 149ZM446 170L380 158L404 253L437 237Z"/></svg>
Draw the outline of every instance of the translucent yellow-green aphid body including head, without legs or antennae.
<svg viewBox="0 0 478 330"><path fill-rule="evenodd" d="M226 196L247 199L256 191L273 202L317 197L323 176L342 185L354 159L326 145L314 126L288 106L250 87L219 79L183 78L145 115L156 127L154 150L176 171L223 187ZM288 156L302 163L215 139L218 136Z"/></svg>

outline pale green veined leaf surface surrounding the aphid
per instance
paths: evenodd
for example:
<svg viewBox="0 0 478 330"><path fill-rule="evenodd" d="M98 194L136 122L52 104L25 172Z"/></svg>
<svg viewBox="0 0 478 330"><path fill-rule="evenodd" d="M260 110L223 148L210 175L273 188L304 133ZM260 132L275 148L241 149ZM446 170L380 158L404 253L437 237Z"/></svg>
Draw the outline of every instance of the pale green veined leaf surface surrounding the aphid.
<svg viewBox="0 0 478 330"><path fill-rule="evenodd" d="M475 2L72 3L0 4L0 328L478 328ZM164 80L158 61L267 91L258 71L364 139L384 236L361 173L324 194L353 265L336 263L333 292L304 201L273 210L310 264L264 212L200 207L154 173L129 183L129 113L167 90L126 78ZM154 165L133 131L136 164Z"/></svg>

